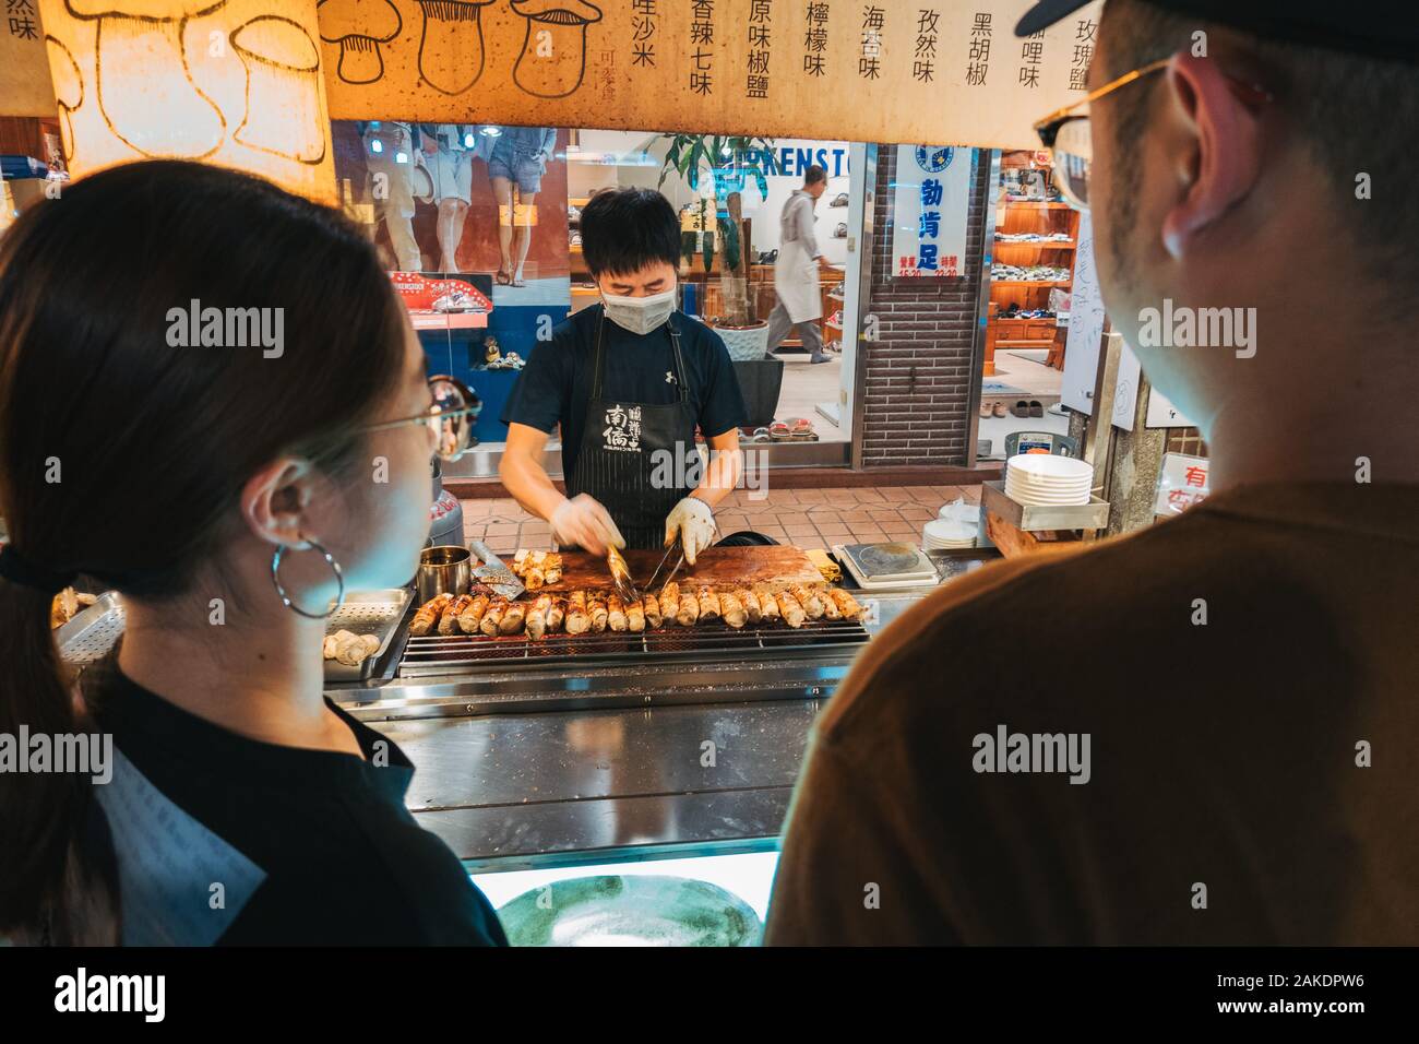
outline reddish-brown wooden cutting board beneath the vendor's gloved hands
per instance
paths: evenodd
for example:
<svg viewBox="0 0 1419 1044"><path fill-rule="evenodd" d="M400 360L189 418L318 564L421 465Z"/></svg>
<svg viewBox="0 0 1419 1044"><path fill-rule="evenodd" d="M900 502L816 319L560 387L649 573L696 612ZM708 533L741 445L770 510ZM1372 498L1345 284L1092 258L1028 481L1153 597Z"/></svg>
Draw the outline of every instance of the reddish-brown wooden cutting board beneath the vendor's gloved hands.
<svg viewBox="0 0 1419 1044"><path fill-rule="evenodd" d="M644 584L656 571L664 551L626 551L626 564L637 584ZM678 551L666 562L661 571L664 580L674 568ZM511 557L505 561L511 561ZM710 584L712 587L746 587L766 584L820 584L823 574L800 548L778 544L773 547L707 547L700 553L694 567L680 567L677 584ZM548 584L542 591L566 594L578 588L609 588L610 572L604 558L596 558L585 551L562 553L562 580ZM657 584L658 587L658 584ZM541 594L529 592L529 594Z"/></svg>

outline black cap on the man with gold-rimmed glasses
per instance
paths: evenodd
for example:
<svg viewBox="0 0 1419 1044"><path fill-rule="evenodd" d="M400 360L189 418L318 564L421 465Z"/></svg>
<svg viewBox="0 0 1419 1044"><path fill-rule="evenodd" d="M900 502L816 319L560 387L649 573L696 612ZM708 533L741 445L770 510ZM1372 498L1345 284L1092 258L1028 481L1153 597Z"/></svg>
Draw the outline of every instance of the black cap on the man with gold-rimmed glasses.
<svg viewBox="0 0 1419 1044"><path fill-rule="evenodd" d="M1015 27L1017 37L1049 28L1091 0L1040 0ZM1147 0L1174 14L1230 26L1263 40L1419 62L1419 4L1413 0Z"/></svg>

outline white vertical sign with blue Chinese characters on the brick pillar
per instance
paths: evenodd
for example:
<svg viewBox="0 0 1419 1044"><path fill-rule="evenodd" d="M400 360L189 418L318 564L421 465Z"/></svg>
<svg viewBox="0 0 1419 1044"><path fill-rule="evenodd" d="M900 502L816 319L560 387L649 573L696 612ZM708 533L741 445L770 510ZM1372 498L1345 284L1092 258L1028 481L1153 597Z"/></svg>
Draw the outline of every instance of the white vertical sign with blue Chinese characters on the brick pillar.
<svg viewBox="0 0 1419 1044"><path fill-rule="evenodd" d="M891 256L898 278L958 278L965 266L966 213L975 149L898 145L893 182Z"/></svg>

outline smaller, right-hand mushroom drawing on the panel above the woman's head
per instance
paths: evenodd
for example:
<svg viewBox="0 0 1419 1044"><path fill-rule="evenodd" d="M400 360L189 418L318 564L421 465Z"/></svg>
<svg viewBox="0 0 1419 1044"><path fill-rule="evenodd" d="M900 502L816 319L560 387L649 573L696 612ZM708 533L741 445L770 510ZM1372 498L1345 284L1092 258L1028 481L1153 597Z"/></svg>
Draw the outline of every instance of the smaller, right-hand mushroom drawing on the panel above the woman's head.
<svg viewBox="0 0 1419 1044"><path fill-rule="evenodd" d="M305 28L263 14L231 34L231 50L247 68L247 109L231 136L298 163L325 159L321 53Z"/></svg>

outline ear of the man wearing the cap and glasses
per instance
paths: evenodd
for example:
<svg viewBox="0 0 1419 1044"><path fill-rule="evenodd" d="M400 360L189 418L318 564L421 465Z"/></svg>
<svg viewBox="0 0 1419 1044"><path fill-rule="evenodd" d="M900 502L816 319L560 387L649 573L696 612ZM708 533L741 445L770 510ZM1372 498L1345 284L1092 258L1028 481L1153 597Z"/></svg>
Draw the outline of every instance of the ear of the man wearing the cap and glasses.
<svg viewBox="0 0 1419 1044"><path fill-rule="evenodd" d="M1193 236L1252 192L1261 168L1261 121L1232 89L1215 58L1174 55L1164 111L1186 143L1175 156L1183 197L1162 226L1164 247L1182 257Z"/></svg>

